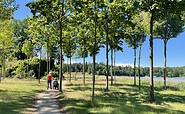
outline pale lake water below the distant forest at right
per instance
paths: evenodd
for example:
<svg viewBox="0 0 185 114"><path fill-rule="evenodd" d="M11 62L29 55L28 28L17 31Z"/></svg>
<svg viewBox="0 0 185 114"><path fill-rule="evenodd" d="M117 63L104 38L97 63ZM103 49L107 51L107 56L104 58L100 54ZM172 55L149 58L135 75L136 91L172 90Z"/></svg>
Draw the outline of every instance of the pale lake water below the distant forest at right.
<svg viewBox="0 0 185 114"><path fill-rule="evenodd" d="M138 78L138 77L137 77ZM150 77L141 77L141 80L150 80ZM154 76L155 81L163 81L164 77L156 77ZM166 81L172 81L172 82L185 82L185 77L175 77L175 78L166 78Z"/></svg>

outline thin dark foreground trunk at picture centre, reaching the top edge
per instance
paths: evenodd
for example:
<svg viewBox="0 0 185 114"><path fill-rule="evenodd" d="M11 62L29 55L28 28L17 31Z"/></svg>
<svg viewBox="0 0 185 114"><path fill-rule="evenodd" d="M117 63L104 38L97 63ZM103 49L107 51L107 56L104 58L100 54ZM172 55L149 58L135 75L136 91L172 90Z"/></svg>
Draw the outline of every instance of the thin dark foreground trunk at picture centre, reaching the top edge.
<svg viewBox="0 0 185 114"><path fill-rule="evenodd" d="M96 0L95 0L95 35L94 35L94 53L93 53L93 89L92 89L92 105L94 105L94 86L95 86L95 57L96 57L96 21L97 21L97 14L96 14Z"/></svg>

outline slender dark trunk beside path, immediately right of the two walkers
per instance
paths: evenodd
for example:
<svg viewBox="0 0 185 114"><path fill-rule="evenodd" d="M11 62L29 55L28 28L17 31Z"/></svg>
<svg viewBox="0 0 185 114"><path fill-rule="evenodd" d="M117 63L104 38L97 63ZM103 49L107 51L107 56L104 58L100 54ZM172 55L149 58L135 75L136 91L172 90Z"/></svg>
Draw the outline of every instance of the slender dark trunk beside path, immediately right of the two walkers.
<svg viewBox="0 0 185 114"><path fill-rule="evenodd" d="M62 0L62 16L63 16L63 10L64 10L64 0ZM63 55L62 55L62 17L59 16L59 20L60 20L60 91L62 92L62 59L63 59Z"/></svg>

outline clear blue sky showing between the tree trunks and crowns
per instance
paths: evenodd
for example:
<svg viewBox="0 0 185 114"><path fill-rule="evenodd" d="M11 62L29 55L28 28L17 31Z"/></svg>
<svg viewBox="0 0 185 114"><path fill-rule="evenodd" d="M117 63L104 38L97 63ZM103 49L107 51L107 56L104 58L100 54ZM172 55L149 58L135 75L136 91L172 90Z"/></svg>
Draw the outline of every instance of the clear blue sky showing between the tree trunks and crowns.
<svg viewBox="0 0 185 114"><path fill-rule="evenodd" d="M15 19L22 20L26 18L26 15L31 16L29 8L25 7L25 4L32 0L17 0L17 4L20 5L19 9L15 12ZM142 46L141 53L141 65L149 66L149 37L146 38ZM137 50L138 57L139 49ZM117 65L133 65L133 49L128 48L127 44L123 44L123 52L116 52L116 64ZM100 53L96 56L97 62L106 62L105 48L100 50ZM110 54L109 54L110 59ZM92 61L91 57L86 59ZM138 60L138 58L137 58ZM73 62L82 62L82 59L72 60ZM109 60L109 64L110 64ZM138 63L138 61L137 61ZM154 40L154 66L163 66L164 64L164 43L162 40ZM185 32L181 33L177 38L170 39L167 43L167 66L185 66Z"/></svg>

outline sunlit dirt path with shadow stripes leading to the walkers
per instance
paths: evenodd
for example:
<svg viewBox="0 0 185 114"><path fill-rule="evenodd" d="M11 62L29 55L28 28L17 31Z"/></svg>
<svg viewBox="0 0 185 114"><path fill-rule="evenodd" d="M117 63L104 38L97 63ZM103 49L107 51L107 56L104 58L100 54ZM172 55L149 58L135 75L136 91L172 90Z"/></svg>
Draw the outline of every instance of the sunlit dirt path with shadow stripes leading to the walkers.
<svg viewBox="0 0 185 114"><path fill-rule="evenodd" d="M63 85L64 89L65 85ZM35 99L35 105L32 108L27 108L26 114L61 114L61 108L55 98L58 90L45 90L38 93Z"/></svg>

